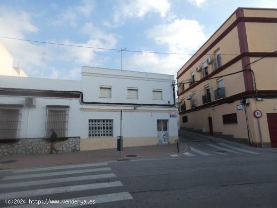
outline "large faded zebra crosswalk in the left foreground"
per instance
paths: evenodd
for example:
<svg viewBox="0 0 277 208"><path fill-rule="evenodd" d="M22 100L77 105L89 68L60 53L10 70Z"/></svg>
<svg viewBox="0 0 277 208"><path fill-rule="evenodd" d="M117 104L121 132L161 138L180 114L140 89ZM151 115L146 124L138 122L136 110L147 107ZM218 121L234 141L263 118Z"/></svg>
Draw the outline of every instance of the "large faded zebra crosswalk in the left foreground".
<svg viewBox="0 0 277 208"><path fill-rule="evenodd" d="M49 204L50 198L47 200L47 195L49 194L60 194L59 196L64 197L59 198L60 202L63 200L84 201L86 199L93 199L95 203L103 203L132 199L132 196L126 191L110 193L115 190L113 189L114 187L120 189L120 187L123 187L123 184L121 181L116 180L114 173L110 173L111 168L105 167L107 165L107 163L91 163L14 170L0 180L0 206L5 204L3 201L6 199L26 197L45 198L39 207L44 207L44 205L45 207L87 205L72 205L69 203ZM81 184L79 184L80 182ZM94 193L98 193L97 190L101 190L100 193L103 194L88 195L93 190L96 190ZM104 193L105 191L108 193ZM84 196L82 196L83 192L85 194ZM78 196L81 194L81 196L70 198L75 194ZM35 205L38 204L26 203L9 207L36 207Z"/></svg>

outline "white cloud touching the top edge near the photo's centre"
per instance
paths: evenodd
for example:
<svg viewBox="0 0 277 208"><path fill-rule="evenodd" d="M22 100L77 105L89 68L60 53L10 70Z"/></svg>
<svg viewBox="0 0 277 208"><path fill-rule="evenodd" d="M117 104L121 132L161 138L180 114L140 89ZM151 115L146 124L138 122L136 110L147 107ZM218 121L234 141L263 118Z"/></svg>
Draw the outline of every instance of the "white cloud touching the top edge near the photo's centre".
<svg viewBox="0 0 277 208"><path fill-rule="evenodd" d="M114 23L104 22L106 26L120 26L128 18L144 18L148 13L159 13L166 17L170 10L168 0L121 0L114 8Z"/></svg>

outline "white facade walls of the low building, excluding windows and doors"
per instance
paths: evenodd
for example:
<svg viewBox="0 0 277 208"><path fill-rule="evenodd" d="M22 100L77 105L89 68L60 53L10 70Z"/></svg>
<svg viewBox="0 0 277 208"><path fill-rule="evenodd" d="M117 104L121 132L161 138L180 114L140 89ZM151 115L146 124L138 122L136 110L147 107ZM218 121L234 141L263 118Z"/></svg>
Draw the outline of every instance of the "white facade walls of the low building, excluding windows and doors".
<svg viewBox="0 0 277 208"><path fill-rule="evenodd" d="M83 67L82 81L0 76L0 104L23 105L21 138L44 137L47 107L68 106L66 136L80 136L81 150L116 148L121 111L123 147L158 144L158 120L166 122L172 143L178 138L173 82L169 75L95 67ZM101 86L111 98L101 98ZM128 99L128 88L137 90L137 99ZM153 89L161 100L153 99ZM26 97L35 98L35 106L25 105ZM112 136L89 136L89 119L112 119Z"/></svg>

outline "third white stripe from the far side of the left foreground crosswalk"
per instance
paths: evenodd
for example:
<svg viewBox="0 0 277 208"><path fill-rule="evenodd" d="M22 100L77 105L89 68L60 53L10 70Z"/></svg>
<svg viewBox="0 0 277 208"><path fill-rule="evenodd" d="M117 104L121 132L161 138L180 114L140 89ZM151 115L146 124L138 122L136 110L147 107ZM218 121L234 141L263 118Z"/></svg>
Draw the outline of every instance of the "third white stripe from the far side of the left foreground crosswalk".
<svg viewBox="0 0 277 208"><path fill-rule="evenodd" d="M99 175L67 177L67 178L54 178L54 179L46 179L46 180L4 183L4 184L0 184L0 188L16 188L16 187L23 187L23 186L34 186L34 185L53 184L53 183L71 182L71 181L82 181L82 180L93 180L93 179L101 179L101 178L113 178L113 177L116 177L116 175L113 173L108 173L108 174L99 174Z"/></svg>

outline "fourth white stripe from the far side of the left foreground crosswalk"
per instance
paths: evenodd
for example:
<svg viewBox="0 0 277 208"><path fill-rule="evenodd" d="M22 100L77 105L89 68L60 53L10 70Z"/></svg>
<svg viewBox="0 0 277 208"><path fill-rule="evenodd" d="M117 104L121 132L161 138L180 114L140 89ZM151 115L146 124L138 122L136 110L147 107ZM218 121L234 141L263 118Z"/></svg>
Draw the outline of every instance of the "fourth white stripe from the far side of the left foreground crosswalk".
<svg viewBox="0 0 277 208"><path fill-rule="evenodd" d="M72 191L82 191L82 190L90 190L90 189L98 189L98 188L109 188L123 186L120 181L107 182L107 183L91 183L91 184L82 184L75 186L64 186L64 187L54 187L54 188L44 188L44 189L36 189L36 190L24 190L17 192L8 192L1 193L0 200L9 199L9 198L22 198L28 196L39 196L53 193L63 193L63 192L72 192Z"/></svg>

